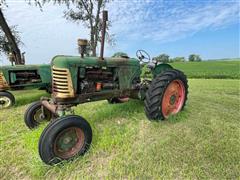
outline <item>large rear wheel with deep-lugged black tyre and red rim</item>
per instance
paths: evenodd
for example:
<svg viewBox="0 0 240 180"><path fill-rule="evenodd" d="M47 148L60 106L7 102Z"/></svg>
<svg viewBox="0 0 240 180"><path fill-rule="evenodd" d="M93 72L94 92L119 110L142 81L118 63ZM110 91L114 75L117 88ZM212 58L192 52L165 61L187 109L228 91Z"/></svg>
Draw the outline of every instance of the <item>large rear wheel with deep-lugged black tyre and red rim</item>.
<svg viewBox="0 0 240 180"><path fill-rule="evenodd" d="M150 120L166 119L181 111L186 103L188 84L186 76L171 69L153 79L146 92L145 113Z"/></svg>

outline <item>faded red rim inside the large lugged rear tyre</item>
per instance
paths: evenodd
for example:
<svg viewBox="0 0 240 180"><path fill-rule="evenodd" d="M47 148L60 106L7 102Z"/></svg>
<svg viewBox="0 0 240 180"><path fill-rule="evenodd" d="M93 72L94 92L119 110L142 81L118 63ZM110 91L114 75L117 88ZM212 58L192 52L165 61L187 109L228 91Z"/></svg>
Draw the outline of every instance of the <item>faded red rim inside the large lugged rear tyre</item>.
<svg viewBox="0 0 240 180"><path fill-rule="evenodd" d="M162 114L165 118L177 114L183 106L185 87L181 80L173 80L164 92Z"/></svg>

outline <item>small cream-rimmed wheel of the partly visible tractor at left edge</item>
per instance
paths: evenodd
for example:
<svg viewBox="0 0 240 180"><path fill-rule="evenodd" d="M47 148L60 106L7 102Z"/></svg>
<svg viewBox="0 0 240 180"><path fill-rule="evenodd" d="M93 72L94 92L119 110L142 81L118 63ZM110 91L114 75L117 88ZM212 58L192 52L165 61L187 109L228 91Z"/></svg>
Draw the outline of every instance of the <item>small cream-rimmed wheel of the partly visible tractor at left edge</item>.
<svg viewBox="0 0 240 180"><path fill-rule="evenodd" d="M5 109L15 104L15 97L8 91L0 92L0 109Z"/></svg>

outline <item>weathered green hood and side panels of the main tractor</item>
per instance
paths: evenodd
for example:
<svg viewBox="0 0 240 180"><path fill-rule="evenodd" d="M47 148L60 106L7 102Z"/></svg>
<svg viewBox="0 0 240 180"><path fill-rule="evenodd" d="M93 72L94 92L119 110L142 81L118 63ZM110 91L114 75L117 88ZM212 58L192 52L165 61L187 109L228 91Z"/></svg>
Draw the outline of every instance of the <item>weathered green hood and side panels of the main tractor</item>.
<svg viewBox="0 0 240 180"><path fill-rule="evenodd" d="M140 77L141 70L138 59L134 58L105 58L80 56L55 56L52 66L70 70L74 90L77 91L78 72L84 77L85 68L115 68L115 75L119 77L120 89L131 89L134 78Z"/></svg>

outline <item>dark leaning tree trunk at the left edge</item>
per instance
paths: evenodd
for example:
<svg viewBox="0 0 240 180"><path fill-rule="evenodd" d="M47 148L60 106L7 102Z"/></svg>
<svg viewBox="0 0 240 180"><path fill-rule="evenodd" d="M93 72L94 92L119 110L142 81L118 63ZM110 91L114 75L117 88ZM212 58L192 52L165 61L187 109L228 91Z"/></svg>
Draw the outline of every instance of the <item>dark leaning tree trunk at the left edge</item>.
<svg viewBox="0 0 240 180"><path fill-rule="evenodd" d="M5 33L8 42L11 44L13 55L15 57L15 64L24 64L24 62L22 62L22 58L21 58L21 51L18 48L18 45L15 41L15 37L13 36L12 31L9 28L9 26L4 18L1 8L0 8L0 26L3 30L3 32Z"/></svg>

